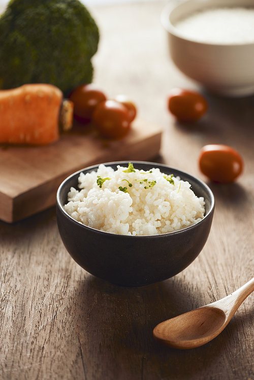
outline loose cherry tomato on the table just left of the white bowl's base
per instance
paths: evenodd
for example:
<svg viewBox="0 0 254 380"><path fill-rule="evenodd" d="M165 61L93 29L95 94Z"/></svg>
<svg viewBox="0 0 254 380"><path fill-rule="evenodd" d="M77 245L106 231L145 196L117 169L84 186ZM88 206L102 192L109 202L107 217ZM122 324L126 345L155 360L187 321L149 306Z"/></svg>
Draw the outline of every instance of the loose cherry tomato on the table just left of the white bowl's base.
<svg viewBox="0 0 254 380"><path fill-rule="evenodd" d="M168 97L168 109L179 122L191 123L206 113L207 101L196 91L175 88Z"/></svg>

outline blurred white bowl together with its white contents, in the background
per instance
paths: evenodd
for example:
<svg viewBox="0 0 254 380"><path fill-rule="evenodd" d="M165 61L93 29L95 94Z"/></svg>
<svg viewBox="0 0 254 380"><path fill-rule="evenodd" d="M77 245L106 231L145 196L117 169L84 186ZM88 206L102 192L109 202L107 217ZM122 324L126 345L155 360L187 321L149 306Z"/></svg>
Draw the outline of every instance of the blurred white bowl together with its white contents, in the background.
<svg viewBox="0 0 254 380"><path fill-rule="evenodd" d="M183 74L222 96L254 94L253 0L170 2L161 20Z"/></svg>

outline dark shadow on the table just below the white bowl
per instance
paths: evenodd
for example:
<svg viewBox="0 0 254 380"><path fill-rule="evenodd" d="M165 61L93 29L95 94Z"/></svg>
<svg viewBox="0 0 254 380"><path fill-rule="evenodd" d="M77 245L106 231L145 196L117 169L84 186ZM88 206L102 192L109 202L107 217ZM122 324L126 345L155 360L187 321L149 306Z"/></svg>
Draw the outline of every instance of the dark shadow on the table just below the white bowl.
<svg viewBox="0 0 254 380"><path fill-rule="evenodd" d="M252 157L254 138L254 96L230 98L204 93L208 111L194 123L174 122L181 137L187 135L189 144L226 144L237 149L243 158ZM201 145L201 146L202 146ZM200 148L201 148L200 146Z"/></svg>

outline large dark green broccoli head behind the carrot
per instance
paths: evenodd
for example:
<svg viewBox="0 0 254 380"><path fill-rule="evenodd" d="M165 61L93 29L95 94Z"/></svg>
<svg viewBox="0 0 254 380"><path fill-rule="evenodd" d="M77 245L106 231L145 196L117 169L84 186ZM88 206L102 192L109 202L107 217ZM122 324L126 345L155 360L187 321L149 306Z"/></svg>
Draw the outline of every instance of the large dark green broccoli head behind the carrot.
<svg viewBox="0 0 254 380"><path fill-rule="evenodd" d="M0 17L0 89L92 81L99 29L79 0L11 0Z"/></svg>

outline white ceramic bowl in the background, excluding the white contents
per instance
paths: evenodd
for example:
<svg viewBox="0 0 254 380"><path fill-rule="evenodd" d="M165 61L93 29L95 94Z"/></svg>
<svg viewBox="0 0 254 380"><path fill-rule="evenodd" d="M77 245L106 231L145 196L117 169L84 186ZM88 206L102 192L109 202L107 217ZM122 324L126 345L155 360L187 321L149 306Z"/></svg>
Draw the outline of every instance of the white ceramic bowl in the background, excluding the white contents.
<svg viewBox="0 0 254 380"><path fill-rule="evenodd" d="M224 96L254 94L254 43L220 45L186 38L174 25L188 15L208 8L252 7L254 0L187 0L164 8L171 58L179 70L205 88Z"/></svg>

